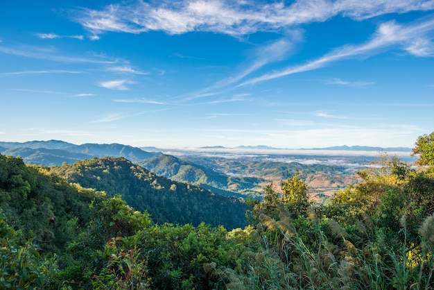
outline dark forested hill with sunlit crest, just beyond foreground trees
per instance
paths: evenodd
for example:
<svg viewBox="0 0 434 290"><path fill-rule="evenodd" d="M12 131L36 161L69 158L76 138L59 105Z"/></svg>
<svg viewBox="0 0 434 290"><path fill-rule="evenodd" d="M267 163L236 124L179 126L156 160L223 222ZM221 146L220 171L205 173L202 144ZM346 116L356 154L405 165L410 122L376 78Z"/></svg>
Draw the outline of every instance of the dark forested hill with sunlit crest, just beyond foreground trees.
<svg viewBox="0 0 434 290"><path fill-rule="evenodd" d="M105 191L108 196L120 194L135 210L147 210L156 223L198 225L205 221L228 229L247 224L248 207L237 198L157 176L123 157L82 160L50 170L68 182Z"/></svg>

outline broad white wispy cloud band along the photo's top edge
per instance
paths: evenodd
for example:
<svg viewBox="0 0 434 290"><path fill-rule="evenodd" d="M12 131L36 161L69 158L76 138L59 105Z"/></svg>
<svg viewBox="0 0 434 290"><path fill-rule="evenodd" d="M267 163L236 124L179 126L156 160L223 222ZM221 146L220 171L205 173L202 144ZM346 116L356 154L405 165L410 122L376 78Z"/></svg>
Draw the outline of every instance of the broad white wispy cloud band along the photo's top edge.
<svg viewBox="0 0 434 290"><path fill-rule="evenodd" d="M76 13L76 21L94 35L106 31L165 31L168 34L209 31L238 36L324 22L336 15L361 20L386 13L433 8L434 1L419 0L299 0L288 5L229 0L134 1L111 4L101 10L83 8Z"/></svg>

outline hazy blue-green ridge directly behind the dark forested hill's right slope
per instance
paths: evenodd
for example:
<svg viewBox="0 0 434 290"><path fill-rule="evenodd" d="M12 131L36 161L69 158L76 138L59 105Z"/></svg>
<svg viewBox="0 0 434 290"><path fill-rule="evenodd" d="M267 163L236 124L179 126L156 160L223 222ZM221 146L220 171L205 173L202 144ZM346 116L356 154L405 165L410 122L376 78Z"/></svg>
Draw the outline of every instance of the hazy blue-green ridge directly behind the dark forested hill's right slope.
<svg viewBox="0 0 434 290"><path fill-rule="evenodd" d="M239 191L252 189L257 187L261 178L250 178L241 176L227 176L223 173L218 173L214 170L216 167L206 167L180 160L179 158L162 154L152 159L139 162L139 165L156 173L159 176L171 178L180 182L189 182L200 187L206 187L211 191L213 188L218 188L223 194L232 192L233 196L240 196ZM248 191L246 194L250 193Z"/></svg>

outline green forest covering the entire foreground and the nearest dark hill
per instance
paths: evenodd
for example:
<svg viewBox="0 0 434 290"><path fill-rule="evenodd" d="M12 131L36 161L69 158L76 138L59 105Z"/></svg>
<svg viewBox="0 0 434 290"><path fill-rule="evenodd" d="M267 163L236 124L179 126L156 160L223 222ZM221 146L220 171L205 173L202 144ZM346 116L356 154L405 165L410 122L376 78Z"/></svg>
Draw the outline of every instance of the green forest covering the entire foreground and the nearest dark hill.
<svg viewBox="0 0 434 290"><path fill-rule="evenodd" d="M121 157L0 155L0 289L433 289L434 132L413 154L323 203L297 172L242 203Z"/></svg>

